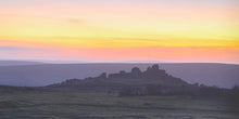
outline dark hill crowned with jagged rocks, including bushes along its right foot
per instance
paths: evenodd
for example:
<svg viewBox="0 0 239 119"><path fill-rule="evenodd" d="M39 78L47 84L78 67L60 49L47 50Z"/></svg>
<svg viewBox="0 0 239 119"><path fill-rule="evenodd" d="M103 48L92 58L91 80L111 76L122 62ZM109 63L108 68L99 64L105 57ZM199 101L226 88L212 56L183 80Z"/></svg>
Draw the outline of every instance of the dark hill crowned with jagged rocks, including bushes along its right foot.
<svg viewBox="0 0 239 119"><path fill-rule="evenodd" d="M141 71L138 67L129 72L121 70L116 74L102 72L98 77L68 79L61 83L50 84L47 90L53 91L87 91L118 93L120 96L131 95L190 95L194 97L224 97L229 90L203 84L190 84L180 78L168 75L152 65Z"/></svg>

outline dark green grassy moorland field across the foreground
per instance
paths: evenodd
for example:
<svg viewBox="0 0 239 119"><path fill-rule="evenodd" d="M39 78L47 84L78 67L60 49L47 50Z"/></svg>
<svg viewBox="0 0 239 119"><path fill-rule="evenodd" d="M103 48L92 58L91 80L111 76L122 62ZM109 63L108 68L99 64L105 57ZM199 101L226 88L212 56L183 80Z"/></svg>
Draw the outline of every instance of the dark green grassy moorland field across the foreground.
<svg viewBox="0 0 239 119"><path fill-rule="evenodd" d="M223 101L83 92L10 92L0 119L239 119Z"/></svg>

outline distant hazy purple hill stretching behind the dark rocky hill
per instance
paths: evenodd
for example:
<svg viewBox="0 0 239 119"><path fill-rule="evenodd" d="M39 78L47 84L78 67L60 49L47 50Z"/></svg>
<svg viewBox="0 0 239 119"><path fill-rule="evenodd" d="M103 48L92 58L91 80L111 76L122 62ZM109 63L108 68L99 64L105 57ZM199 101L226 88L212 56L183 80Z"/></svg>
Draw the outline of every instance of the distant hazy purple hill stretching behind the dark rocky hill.
<svg viewBox="0 0 239 119"><path fill-rule="evenodd" d="M0 84L40 87L64 81L97 77L101 72L130 71L131 67L146 70L152 64L39 64L0 66ZM231 88L239 84L239 65L213 63L163 63L161 68L189 83Z"/></svg>

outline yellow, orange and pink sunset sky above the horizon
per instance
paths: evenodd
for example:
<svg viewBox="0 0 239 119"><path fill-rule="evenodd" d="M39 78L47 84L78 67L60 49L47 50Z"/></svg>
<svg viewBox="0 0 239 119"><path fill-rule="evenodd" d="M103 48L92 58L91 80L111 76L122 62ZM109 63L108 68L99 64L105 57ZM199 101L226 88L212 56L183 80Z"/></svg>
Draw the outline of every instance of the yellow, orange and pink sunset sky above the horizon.
<svg viewBox="0 0 239 119"><path fill-rule="evenodd" d="M239 1L0 0L0 60L239 64Z"/></svg>

